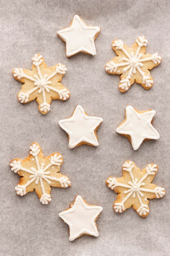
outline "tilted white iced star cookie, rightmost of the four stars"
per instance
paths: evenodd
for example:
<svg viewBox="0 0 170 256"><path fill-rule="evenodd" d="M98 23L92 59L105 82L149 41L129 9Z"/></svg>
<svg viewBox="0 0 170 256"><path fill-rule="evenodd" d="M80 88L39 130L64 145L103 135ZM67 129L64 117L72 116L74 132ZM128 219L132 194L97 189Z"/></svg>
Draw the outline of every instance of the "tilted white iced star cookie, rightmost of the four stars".
<svg viewBox="0 0 170 256"><path fill-rule="evenodd" d="M134 150L137 150L144 140L159 139L159 133L152 126L155 110L138 111L132 106L126 107L125 120L116 131L128 137Z"/></svg>

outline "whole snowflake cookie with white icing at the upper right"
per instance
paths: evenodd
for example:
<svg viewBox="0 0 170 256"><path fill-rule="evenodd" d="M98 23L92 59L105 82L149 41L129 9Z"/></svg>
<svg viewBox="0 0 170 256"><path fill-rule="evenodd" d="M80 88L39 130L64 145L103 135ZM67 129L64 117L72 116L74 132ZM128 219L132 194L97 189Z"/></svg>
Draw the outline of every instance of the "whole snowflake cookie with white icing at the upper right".
<svg viewBox="0 0 170 256"><path fill-rule="evenodd" d="M146 90L153 86L149 70L161 63L161 57L157 52L145 54L147 43L148 40L144 36L139 36L132 48L120 39L113 41L112 47L117 57L106 63L105 70L108 74L121 75L121 92L126 92L134 82L141 84Z"/></svg>

